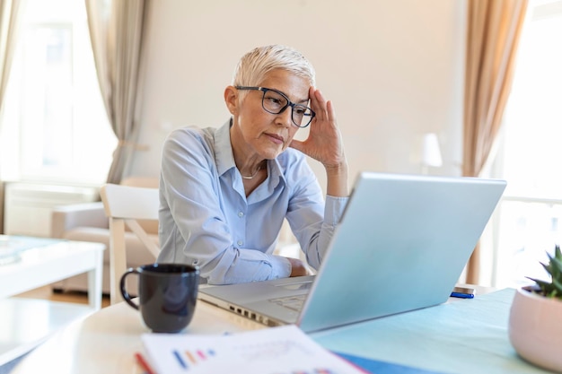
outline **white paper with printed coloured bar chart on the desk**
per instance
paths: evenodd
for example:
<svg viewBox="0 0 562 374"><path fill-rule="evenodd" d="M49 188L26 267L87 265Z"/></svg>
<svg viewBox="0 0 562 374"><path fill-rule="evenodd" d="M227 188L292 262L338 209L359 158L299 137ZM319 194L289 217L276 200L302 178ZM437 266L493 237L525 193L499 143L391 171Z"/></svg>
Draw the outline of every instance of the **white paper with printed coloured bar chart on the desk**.
<svg viewBox="0 0 562 374"><path fill-rule="evenodd" d="M365 373L294 325L232 335L144 334L142 341L160 374Z"/></svg>

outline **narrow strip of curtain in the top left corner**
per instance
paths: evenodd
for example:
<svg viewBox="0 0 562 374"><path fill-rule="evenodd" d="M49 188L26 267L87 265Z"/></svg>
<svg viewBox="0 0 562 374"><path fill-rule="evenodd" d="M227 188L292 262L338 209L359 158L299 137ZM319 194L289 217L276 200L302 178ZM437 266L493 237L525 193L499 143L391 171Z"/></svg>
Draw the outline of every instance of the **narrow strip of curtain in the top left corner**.
<svg viewBox="0 0 562 374"><path fill-rule="evenodd" d="M0 112L4 106L4 92L10 76L16 35L20 28L20 11L25 0L0 0ZM1 123L0 123L1 126Z"/></svg>

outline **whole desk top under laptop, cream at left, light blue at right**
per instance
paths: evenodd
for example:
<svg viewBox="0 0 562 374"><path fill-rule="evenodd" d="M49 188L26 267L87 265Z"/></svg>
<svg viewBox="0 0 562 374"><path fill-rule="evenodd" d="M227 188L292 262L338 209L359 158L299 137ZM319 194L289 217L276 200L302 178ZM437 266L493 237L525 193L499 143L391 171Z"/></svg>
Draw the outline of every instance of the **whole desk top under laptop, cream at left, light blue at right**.
<svg viewBox="0 0 562 374"><path fill-rule="evenodd" d="M326 348L444 373L544 373L522 361L507 338L514 290L316 333ZM186 334L265 328L198 301ZM59 332L31 352L13 374L49 368L64 373L140 373L134 352L148 332L139 313L119 303Z"/></svg>

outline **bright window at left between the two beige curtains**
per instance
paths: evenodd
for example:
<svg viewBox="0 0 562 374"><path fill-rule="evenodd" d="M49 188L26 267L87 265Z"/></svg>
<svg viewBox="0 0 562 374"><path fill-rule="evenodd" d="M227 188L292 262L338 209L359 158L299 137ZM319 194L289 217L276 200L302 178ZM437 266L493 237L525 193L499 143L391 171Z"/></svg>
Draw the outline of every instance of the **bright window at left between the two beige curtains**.
<svg viewBox="0 0 562 374"><path fill-rule="evenodd" d="M6 91L4 179L99 184L117 144L101 100L84 2L29 0Z"/></svg>

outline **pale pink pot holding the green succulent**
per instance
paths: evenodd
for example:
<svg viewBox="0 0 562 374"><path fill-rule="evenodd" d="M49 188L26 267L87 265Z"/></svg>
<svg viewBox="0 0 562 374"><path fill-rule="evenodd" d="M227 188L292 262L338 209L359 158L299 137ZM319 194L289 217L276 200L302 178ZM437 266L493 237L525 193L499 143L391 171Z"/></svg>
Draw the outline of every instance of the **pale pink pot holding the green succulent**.
<svg viewBox="0 0 562 374"><path fill-rule="evenodd" d="M562 300L517 290L509 315L509 340L519 355L562 373Z"/></svg>

